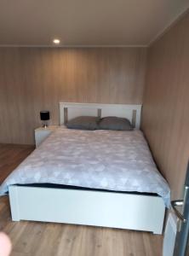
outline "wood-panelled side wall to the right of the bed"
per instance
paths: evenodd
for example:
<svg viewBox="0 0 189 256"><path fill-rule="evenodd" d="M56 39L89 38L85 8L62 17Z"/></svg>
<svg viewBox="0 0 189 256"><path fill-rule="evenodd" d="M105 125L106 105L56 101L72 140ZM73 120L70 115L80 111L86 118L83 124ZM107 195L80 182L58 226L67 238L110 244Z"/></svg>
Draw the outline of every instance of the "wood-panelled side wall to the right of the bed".
<svg viewBox="0 0 189 256"><path fill-rule="evenodd" d="M189 14L147 55L142 129L172 198L180 198L189 158Z"/></svg>

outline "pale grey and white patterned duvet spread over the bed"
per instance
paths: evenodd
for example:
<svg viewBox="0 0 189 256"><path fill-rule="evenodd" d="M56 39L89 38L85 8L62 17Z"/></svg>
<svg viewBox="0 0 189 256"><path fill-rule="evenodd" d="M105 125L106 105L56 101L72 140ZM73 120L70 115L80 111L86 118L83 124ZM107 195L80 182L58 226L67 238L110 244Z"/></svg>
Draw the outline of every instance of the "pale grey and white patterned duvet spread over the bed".
<svg viewBox="0 0 189 256"><path fill-rule="evenodd" d="M169 185L158 172L141 131L57 128L0 186L54 183L90 189L152 193L169 207Z"/></svg>

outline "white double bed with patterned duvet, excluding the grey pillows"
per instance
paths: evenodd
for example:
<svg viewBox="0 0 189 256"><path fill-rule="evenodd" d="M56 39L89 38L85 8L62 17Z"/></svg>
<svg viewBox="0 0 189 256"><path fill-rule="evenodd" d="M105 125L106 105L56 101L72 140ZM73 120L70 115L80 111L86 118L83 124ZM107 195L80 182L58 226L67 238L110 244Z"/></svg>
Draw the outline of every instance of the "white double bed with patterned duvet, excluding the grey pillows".
<svg viewBox="0 0 189 256"><path fill-rule="evenodd" d="M140 131L140 105L60 103L60 127L0 187L14 221L162 234L169 186ZM79 115L128 118L135 131L66 129Z"/></svg>

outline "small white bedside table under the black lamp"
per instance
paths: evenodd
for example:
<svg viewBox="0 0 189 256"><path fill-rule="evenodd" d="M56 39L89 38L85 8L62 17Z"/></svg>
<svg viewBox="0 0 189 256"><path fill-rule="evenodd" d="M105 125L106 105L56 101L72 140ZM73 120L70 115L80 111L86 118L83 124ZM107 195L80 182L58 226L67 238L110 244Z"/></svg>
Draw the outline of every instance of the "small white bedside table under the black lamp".
<svg viewBox="0 0 189 256"><path fill-rule="evenodd" d="M36 148L43 143L43 141L46 139L46 137L49 137L49 135L58 128L59 125L49 125L47 128L39 127L35 129L35 142L36 142Z"/></svg>

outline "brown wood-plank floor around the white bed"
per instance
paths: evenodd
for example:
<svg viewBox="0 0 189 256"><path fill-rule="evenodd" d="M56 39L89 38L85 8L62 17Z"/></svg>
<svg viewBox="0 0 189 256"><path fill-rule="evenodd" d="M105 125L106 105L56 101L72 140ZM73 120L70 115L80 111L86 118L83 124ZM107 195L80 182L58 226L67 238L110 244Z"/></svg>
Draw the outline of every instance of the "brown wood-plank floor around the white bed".
<svg viewBox="0 0 189 256"><path fill-rule="evenodd" d="M0 181L33 147L0 144ZM161 256L162 236L69 224L12 222L9 199L0 197L0 230L13 243L11 256Z"/></svg>

